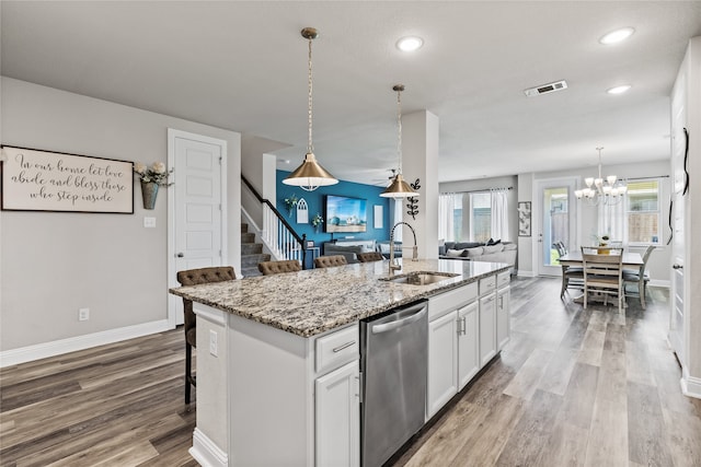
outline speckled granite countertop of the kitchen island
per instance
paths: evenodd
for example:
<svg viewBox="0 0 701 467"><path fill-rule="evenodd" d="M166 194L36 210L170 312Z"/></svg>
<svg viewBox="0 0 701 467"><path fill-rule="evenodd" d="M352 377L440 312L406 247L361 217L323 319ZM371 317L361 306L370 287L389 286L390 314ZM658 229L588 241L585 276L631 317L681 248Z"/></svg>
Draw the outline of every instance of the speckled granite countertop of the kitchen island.
<svg viewBox="0 0 701 467"><path fill-rule="evenodd" d="M359 262L180 287L170 292L287 332L311 337L510 268L502 262L404 259L402 270L395 276L412 271L460 275L429 285L410 285L378 280L387 278L388 266L387 260Z"/></svg>

